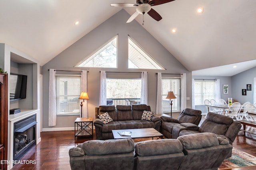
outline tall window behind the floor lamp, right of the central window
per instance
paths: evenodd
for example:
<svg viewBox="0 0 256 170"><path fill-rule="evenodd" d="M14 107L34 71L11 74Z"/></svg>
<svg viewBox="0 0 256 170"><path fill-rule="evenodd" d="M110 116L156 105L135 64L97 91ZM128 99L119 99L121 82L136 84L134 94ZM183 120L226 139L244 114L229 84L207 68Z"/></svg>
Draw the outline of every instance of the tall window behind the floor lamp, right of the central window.
<svg viewBox="0 0 256 170"><path fill-rule="evenodd" d="M166 99L168 92L172 91L176 99L172 99L172 111L181 110L180 78L162 78L162 107L164 112L170 112L170 100Z"/></svg>

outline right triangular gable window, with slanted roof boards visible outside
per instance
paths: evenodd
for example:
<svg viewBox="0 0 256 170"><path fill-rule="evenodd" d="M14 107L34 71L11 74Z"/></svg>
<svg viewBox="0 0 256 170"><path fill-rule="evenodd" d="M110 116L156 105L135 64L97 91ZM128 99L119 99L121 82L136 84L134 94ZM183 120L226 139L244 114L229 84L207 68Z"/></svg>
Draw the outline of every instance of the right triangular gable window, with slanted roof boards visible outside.
<svg viewBox="0 0 256 170"><path fill-rule="evenodd" d="M130 36L128 36L128 59L128 68L165 70L160 63L158 63Z"/></svg>

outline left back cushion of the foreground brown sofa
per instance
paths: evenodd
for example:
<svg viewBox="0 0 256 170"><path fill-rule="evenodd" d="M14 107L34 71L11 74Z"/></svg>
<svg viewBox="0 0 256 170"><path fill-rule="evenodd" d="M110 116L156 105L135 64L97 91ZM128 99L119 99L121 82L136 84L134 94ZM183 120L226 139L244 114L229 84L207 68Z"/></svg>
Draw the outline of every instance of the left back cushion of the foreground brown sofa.
<svg viewBox="0 0 256 170"><path fill-rule="evenodd" d="M110 139L106 141L92 140L84 142L83 149L86 155L129 153L134 150L134 142L130 138L118 140Z"/></svg>

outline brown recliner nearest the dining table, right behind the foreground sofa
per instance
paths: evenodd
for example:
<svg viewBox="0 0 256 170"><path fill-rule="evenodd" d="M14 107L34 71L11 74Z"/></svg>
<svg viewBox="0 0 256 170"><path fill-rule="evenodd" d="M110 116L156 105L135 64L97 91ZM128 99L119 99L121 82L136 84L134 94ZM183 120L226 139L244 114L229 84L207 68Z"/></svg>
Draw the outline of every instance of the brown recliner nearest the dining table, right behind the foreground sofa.
<svg viewBox="0 0 256 170"><path fill-rule="evenodd" d="M229 140L230 145L232 145L241 127L241 123L234 121L231 117L209 112L200 127L194 128L193 130L182 130L180 131L179 136L210 132L216 134L218 137L226 137ZM228 157L230 157L231 154L232 152L230 152Z"/></svg>

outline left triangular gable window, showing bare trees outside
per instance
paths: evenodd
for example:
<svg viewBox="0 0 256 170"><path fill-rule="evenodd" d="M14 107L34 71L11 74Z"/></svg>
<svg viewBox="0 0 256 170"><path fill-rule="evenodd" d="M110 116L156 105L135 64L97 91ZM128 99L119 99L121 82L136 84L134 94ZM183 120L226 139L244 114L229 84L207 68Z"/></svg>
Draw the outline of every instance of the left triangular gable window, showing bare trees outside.
<svg viewBox="0 0 256 170"><path fill-rule="evenodd" d="M87 56L76 67L110 67L117 68L117 37L110 39L99 49Z"/></svg>

